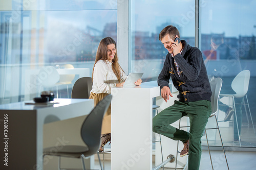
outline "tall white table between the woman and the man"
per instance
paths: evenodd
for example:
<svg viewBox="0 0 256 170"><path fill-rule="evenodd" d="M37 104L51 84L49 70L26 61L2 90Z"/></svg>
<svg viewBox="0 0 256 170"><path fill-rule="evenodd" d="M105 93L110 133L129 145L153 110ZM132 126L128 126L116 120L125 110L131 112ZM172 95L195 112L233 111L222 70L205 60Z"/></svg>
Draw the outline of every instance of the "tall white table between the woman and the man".
<svg viewBox="0 0 256 170"><path fill-rule="evenodd" d="M160 87L112 88L111 169L152 169L152 105Z"/></svg>

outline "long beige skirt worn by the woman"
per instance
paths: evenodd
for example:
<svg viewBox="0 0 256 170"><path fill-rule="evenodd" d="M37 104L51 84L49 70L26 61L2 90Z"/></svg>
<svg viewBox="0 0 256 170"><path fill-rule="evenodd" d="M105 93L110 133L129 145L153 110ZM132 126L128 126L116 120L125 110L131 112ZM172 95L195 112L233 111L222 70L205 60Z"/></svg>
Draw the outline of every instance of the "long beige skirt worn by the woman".
<svg viewBox="0 0 256 170"><path fill-rule="evenodd" d="M97 94L91 92L89 99L94 99L94 106L96 106L106 95L108 95L108 93ZM111 133L111 105L106 111L102 121L101 134L105 133Z"/></svg>

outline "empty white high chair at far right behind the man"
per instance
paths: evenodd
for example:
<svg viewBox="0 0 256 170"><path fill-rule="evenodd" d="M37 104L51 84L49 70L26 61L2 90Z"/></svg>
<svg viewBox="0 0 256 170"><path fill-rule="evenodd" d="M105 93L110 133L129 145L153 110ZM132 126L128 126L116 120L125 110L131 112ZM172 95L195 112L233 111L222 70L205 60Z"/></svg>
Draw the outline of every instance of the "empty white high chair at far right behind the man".
<svg viewBox="0 0 256 170"><path fill-rule="evenodd" d="M251 118L251 124L252 124L253 131L254 131L254 134L255 134L255 129L254 129L254 125L253 125L251 111L250 111L248 98L247 98L247 94L246 94L247 91L248 91L249 80L250 80L250 71L249 70L243 70L243 71L239 72L239 74L233 79L233 81L231 83L231 88L234 90L234 92L236 92L236 94L220 94L220 98L222 98L224 96L228 97L228 98L232 98L232 106L233 106L233 109L234 109L234 114L236 115L236 122L237 122L237 129L238 129L238 137L239 137L240 147L241 147L241 138L240 138L240 133L241 132L239 132L237 111L236 111L236 102L234 101L234 98L243 98L243 104L242 105L244 105L244 109L245 109L245 112L246 112L247 121L248 121L248 125L249 125L249 120L248 120L248 115L247 115L247 110L246 110L245 105L248 106L248 110L249 110L250 118ZM246 102L247 103L245 103L245 101L244 101L244 96L246 97ZM219 98L219 100L220 100L220 98Z"/></svg>

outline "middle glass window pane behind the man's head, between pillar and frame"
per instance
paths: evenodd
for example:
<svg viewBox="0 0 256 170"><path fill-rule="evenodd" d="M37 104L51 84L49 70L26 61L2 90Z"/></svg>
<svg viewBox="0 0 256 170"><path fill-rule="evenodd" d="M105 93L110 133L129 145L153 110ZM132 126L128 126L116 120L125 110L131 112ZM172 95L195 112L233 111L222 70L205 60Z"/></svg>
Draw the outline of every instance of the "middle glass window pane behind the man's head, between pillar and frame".
<svg viewBox="0 0 256 170"><path fill-rule="evenodd" d="M161 30L174 25L181 39L195 45L195 1L132 1L132 58L130 71L143 81L157 80L168 51L158 40Z"/></svg>

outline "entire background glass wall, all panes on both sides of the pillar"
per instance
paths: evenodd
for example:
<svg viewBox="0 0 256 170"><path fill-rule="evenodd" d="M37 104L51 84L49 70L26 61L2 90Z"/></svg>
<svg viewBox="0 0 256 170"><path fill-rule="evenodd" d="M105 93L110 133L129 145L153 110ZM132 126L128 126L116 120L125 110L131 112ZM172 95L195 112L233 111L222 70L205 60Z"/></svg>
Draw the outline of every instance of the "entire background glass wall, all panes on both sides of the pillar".
<svg viewBox="0 0 256 170"><path fill-rule="evenodd" d="M247 92L250 110L245 109L242 98L236 99L238 121L234 121L234 108L225 106L232 104L232 99L224 97L218 121L224 145L255 147L255 1L199 2L200 27L195 28L195 1L131 0L129 72L144 72L143 81L157 80L167 54L158 40L160 31L174 25L181 39L195 46L195 30L199 29L199 46L209 79L223 79L222 94L234 94L231 86L234 77L242 70L250 71ZM56 87L60 98L70 98L72 83L80 76L92 76L99 41L106 36L117 40L117 8L117 0L2 0L0 104L32 100L42 89L52 89L56 94ZM68 71L74 76L71 84L42 86L53 69L58 71L60 79L63 71L65 74ZM215 132L209 132L215 136L211 145L220 144Z"/></svg>

